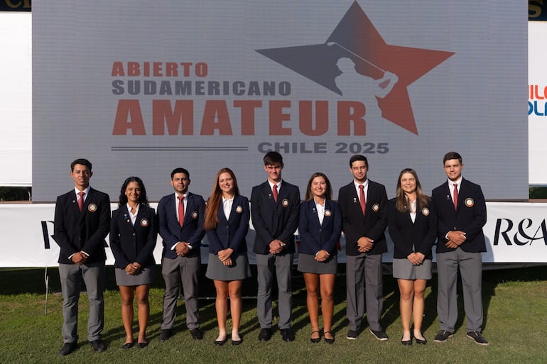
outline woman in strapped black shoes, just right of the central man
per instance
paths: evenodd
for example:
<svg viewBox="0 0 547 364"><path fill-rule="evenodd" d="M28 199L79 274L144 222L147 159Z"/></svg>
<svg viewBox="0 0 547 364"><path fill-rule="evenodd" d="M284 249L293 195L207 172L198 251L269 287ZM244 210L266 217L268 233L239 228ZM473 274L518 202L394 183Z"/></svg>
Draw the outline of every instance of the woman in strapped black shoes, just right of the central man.
<svg viewBox="0 0 547 364"><path fill-rule="evenodd" d="M298 271L303 272L308 292L306 303L311 321L312 343L321 340L319 331L319 296L323 313L323 335L326 343L334 343L332 336L333 293L337 269L337 243L342 232L342 212L332 201L332 187L326 175L315 172L308 181L305 202L300 204L300 246Z"/></svg>

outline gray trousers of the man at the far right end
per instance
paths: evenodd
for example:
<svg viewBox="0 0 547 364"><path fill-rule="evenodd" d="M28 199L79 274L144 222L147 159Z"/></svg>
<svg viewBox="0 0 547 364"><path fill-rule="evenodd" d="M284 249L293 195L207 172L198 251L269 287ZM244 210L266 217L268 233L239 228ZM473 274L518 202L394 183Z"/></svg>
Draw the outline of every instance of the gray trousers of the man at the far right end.
<svg viewBox="0 0 547 364"><path fill-rule="evenodd" d="M480 331L482 326L482 257L460 248L437 253L437 315L440 329L454 332L457 320L457 268L460 267L463 306L467 331Z"/></svg>

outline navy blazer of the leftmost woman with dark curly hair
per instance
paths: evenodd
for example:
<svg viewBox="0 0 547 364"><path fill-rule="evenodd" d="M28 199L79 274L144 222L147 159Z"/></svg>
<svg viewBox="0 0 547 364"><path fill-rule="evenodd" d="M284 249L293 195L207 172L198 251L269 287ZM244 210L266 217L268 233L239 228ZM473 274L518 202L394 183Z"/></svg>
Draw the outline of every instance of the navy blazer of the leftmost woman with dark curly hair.
<svg viewBox="0 0 547 364"><path fill-rule="evenodd" d="M127 205L112 211L110 223L110 248L114 255L114 267L125 269L131 263L139 263L143 268L156 265L153 250L158 236L156 211L151 207L139 206L135 225Z"/></svg>

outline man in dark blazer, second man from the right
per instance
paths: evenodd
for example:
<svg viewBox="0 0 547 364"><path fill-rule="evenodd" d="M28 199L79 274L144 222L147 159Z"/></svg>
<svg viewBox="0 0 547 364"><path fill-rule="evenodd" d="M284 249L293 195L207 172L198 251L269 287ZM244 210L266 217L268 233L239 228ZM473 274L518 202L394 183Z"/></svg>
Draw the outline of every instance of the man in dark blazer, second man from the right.
<svg viewBox="0 0 547 364"><path fill-rule="evenodd" d="M346 337L355 340L361 330L366 288L367 321L378 340L388 339L381 329L384 306L381 255L386 253L386 187L367 178L369 162L364 155L350 158L354 180L340 188L338 204L342 210L342 230L346 238L347 319Z"/></svg>

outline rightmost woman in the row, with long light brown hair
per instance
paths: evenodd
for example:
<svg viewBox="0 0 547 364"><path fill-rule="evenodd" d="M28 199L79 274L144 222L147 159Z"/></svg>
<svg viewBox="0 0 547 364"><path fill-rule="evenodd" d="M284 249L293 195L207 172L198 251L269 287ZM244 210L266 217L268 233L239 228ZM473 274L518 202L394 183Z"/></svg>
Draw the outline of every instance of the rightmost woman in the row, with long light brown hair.
<svg viewBox="0 0 547 364"><path fill-rule="evenodd" d="M393 276L401 293L401 343L411 345L414 336L416 343L423 345L427 342L421 332L423 292L431 279L431 248L437 233L437 217L415 170L406 168L399 174L396 197L389 201L388 211L389 236L394 243Z"/></svg>

